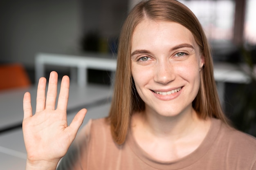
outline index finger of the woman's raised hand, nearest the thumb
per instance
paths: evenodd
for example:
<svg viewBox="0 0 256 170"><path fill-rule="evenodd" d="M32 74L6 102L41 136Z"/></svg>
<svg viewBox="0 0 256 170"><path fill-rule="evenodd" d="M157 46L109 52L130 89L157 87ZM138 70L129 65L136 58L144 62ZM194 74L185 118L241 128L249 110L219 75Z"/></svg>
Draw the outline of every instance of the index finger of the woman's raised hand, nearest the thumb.
<svg viewBox="0 0 256 170"><path fill-rule="evenodd" d="M61 80L61 89L60 89L60 94L58 96L58 104L57 104L58 109L65 110L65 111L67 110L69 88L70 88L70 78L65 75Z"/></svg>

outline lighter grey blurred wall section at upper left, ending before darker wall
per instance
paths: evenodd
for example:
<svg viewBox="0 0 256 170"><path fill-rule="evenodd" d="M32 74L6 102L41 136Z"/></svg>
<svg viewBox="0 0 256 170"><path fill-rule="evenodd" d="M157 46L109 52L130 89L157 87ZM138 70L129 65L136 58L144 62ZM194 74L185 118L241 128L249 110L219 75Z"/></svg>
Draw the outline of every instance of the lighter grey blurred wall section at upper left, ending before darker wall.
<svg viewBox="0 0 256 170"><path fill-rule="evenodd" d="M66 53L77 48L78 0L2 0L0 62L34 66L38 52Z"/></svg>

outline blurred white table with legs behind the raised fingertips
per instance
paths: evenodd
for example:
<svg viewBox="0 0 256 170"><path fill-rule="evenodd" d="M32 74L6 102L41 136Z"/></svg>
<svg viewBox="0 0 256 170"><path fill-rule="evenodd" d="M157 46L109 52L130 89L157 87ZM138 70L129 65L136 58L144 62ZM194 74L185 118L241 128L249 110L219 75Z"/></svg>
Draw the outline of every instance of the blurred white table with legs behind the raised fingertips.
<svg viewBox="0 0 256 170"><path fill-rule="evenodd" d="M115 56L103 54L86 54L85 56L77 56L38 53L35 57L36 80L45 76L45 65L70 67L71 80L76 77L77 84L84 87L87 84L88 68L112 71L113 74L111 78L114 78L117 60Z"/></svg>

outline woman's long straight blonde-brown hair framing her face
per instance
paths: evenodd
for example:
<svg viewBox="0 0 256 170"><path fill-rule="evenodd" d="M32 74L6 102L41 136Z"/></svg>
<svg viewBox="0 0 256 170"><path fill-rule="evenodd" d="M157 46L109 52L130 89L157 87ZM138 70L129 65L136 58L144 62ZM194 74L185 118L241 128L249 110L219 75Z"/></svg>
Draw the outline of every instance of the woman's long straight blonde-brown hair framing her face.
<svg viewBox="0 0 256 170"><path fill-rule="evenodd" d="M200 22L190 9L176 0L148 0L140 2L130 11L120 33L115 86L108 117L114 141L117 144L124 143L132 113L145 109L145 104L134 86L130 58L132 33L145 18L176 22L191 31L204 57L204 66L200 71L200 88L192 106L202 119L215 117L227 123L213 77L211 51Z"/></svg>

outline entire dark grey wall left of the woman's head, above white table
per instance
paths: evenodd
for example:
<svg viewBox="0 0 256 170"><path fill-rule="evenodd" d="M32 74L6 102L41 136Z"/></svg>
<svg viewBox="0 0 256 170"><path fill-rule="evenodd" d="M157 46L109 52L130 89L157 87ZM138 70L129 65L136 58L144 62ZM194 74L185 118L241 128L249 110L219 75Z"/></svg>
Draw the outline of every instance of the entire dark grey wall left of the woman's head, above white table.
<svg viewBox="0 0 256 170"><path fill-rule="evenodd" d="M1 0L0 63L34 67L38 52L74 54L94 29L116 37L127 0Z"/></svg>

